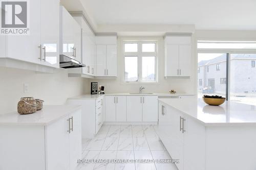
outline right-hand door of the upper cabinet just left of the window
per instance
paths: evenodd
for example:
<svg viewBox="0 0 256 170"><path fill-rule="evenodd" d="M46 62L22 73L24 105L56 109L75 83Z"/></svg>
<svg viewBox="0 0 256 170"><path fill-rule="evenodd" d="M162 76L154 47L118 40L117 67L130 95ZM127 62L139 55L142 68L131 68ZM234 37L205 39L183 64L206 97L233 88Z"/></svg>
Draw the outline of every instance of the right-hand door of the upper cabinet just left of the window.
<svg viewBox="0 0 256 170"><path fill-rule="evenodd" d="M106 45L106 76L117 76L116 53L116 45Z"/></svg>

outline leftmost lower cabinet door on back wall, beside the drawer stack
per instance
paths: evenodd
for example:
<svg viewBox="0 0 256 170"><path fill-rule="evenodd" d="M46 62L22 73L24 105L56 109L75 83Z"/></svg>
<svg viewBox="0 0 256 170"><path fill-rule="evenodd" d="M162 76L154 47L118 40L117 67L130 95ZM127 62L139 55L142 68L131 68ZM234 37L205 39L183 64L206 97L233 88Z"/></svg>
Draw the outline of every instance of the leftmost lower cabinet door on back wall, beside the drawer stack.
<svg viewBox="0 0 256 170"><path fill-rule="evenodd" d="M105 96L106 122L116 122L116 96Z"/></svg>

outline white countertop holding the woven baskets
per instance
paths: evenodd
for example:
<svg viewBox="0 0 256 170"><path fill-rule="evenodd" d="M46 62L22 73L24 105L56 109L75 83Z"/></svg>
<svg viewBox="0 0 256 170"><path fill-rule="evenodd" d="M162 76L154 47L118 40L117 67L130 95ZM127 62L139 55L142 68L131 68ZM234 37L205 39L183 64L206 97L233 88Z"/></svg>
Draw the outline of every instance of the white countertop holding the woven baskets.
<svg viewBox="0 0 256 170"><path fill-rule="evenodd" d="M79 109L81 107L75 105L44 105L42 110L32 114L14 111L0 114L0 125L45 126Z"/></svg>

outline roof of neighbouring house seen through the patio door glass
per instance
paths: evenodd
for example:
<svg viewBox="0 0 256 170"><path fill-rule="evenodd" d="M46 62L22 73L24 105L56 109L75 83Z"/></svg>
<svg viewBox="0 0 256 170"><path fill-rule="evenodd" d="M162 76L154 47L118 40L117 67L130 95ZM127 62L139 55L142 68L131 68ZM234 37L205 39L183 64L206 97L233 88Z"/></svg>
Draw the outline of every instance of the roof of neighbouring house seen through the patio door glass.
<svg viewBox="0 0 256 170"><path fill-rule="evenodd" d="M236 54L232 55L231 59L256 59L256 54ZM214 64L214 63L219 63L222 61L226 61L226 54L223 54L219 57L216 57L214 59L210 60L202 60L198 63L198 66L203 66L203 65L209 65L209 64Z"/></svg>

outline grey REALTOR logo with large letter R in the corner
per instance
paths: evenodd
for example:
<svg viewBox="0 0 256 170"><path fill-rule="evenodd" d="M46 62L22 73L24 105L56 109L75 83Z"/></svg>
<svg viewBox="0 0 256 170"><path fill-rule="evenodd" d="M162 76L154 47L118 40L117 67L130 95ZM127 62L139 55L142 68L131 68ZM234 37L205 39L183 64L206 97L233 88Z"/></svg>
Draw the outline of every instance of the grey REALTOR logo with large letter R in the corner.
<svg viewBox="0 0 256 170"><path fill-rule="evenodd" d="M1 1L1 34L28 35L28 1Z"/></svg>

